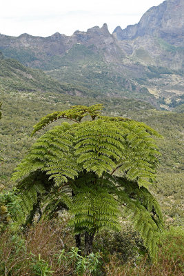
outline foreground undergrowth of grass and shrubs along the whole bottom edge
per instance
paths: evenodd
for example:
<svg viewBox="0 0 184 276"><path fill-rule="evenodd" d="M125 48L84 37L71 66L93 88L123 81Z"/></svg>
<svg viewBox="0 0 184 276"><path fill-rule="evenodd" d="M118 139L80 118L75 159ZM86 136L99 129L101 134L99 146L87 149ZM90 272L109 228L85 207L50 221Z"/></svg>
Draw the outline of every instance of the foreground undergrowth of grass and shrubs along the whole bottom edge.
<svg viewBox="0 0 184 276"><path fill-rule="evenodd" d="M83 276L90 275L90 268L93 269L91 275L98 276L183 275L182 228L171 228L163 232L159 245L158 262L157 264L150 264L146 256L140 259L135 257L132 252L135 246L133 240L135 236L129 228L123 233L114 233L115 235L111 233L112 236L106 231L99 233L96 236L95 243L97 245L94 250L97 247L99 248L99 244L101 244L103 252L96 254L95 251L94 254L88 257L79 255L79 250L74 248L70 228L67 226L68 220L65 221L65 219L66 217L63 214L61 219L57 219L57 223L56 221L39 222L39 224L32 226L26 235L21 233L14 235L10 230L6 230L1 235L0 274L34 276L35 264L39 264L37 270L44 267L51 268L53 272L52 274L48 273L48 275L53 276L74 276L77 275L77 271L79 272L83 268L85 268ZM108 240L110 244L108 244ZM132 248L127 242L130 242ZM138 240L137 242L139 243ZM111 250L111 244L114 246L113 249L116 250L114 253ZM132 262L130 256L128 259L130 262L122 264L121 258L125 256L124 250L127 250L127 254L133 253ZM39 263L39 254L42 260L41 263Z"/></svg>

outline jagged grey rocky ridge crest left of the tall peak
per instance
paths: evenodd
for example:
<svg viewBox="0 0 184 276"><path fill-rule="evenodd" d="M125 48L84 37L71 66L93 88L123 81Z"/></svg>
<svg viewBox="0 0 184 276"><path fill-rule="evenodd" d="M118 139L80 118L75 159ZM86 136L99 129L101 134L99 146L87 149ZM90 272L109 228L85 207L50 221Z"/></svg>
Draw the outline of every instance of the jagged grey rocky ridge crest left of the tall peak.
<svg viewBox="0 0 184 276"><path fill-rule="evenodd" d="M19 37L9 37L0 34L0 50L6 53L6 57L18 59L26 66L45 68L45 64L52 57L63 57L75 44L81 43L94 52L103 51L104 60L117 61L125 55L119 48L116 39L108 30L106 23L101 28L95 26L81 32L76 30L72 36L56 32L50 37L34 37L30 34L21 34ZM22 57L22 53L26 57Z"/></svg>

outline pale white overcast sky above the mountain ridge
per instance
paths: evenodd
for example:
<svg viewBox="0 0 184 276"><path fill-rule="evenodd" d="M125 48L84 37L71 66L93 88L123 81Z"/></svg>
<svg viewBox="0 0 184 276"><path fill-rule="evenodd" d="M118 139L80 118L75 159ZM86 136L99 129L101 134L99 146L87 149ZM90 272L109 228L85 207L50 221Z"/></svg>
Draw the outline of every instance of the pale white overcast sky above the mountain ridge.
<svg viewBox="0 0 184 276"><path fill-rule="evenodd" d="M138 23L149 8L160 3L163 0L1 0L0 33L72 35L103 23L112 33L116 26L124 29Z"/></svg>

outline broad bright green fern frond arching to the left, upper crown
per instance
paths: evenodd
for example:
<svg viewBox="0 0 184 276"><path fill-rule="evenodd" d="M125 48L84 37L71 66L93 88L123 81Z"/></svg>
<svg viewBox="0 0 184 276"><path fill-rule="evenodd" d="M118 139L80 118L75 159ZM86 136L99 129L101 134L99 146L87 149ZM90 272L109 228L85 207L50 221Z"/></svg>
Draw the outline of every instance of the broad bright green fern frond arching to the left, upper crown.
<svg viewBox="0 0 184 276"><path fill-rule="evenodd" d="M80 167L72 155L71 128L72 126L64 123L42 135L19 164L12 179L21 179L37 169L50 175L50 179L54 179L56 184L68 181L68 178L73 179Z"/></svg>

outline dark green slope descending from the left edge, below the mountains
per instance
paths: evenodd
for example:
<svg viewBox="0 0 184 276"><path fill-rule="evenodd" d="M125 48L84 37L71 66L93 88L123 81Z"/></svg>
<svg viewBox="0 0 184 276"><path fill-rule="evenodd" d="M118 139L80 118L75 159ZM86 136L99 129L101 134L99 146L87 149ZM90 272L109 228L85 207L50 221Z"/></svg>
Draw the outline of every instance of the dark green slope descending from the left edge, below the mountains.
<svg viewBox="0 0 184 276"><path fill-rule="evenodd" d="M35 70L23 66L15 59L5 59L0 52L0 87L3 91L21 92L58 92L63 95L77 93L89 94L90 91L82 87L72 86L70 83L60 83L46 75L42 70Z"/></svg>

